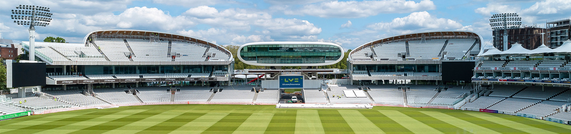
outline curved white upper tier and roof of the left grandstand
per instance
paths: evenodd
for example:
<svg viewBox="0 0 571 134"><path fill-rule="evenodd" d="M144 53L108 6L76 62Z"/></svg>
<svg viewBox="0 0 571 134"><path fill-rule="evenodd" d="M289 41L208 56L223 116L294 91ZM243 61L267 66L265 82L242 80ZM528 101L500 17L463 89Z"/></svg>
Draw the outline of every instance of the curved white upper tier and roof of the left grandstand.
<svg viewBox="0 0 571 134"><path fill-rule="evenodd" d="M228 65L234 60L212 42L145 30L96 30L83 44L38 44L35 49L50 65Z"/></svg>

